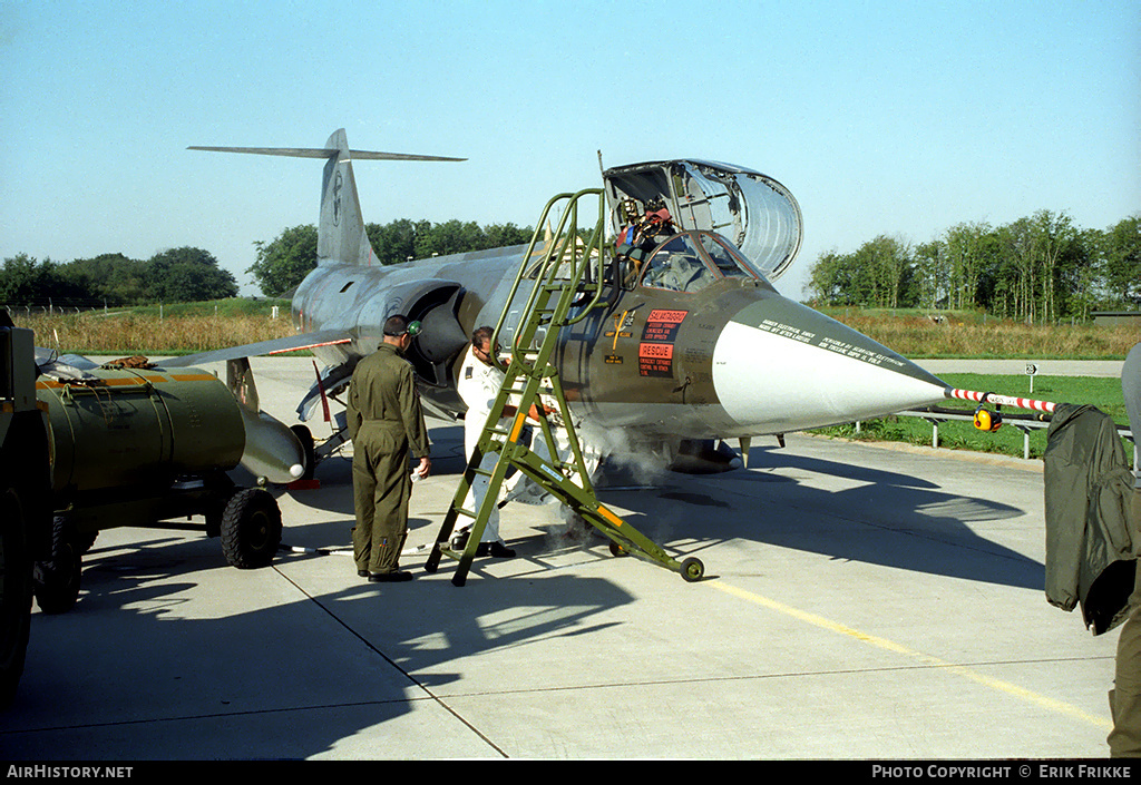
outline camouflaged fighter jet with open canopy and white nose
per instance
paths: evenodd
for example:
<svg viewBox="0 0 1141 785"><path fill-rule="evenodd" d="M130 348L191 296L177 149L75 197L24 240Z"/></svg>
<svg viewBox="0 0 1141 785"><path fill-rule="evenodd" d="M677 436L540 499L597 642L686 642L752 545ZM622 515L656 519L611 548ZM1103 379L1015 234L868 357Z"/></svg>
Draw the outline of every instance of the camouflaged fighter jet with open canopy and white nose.
<svg viewBox="0 0 1141 785"><path fill-rule="evenodd" d="M324 159L318 265L292 300L296 335L168 366L310 349L324 369L298 407L305 421L375 350L386 318L402 313L423 325L408 358L424 404L462 416L455 379L469 335L499 323L528 246L380 266L353 173L354 159L458 159L353 151L343 129L316 149L192 149ZM602 180L613 222L602 305L564 330L555 359L585 440L617 435L678 455L687 444L739 438L747 454L752 437L945 398L936 377L774 288L803 230L795 199L775 179L673 160L612 168ZM504 345L513 318L503 322Z"/></svg>

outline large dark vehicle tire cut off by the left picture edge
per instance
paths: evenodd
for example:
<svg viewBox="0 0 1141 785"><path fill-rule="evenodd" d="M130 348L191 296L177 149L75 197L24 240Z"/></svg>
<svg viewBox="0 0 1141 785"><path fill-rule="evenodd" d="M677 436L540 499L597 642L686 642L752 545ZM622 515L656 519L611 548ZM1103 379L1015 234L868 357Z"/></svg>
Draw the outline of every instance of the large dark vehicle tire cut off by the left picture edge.
<svg viewBox="0 0 1141 785"><path fill-rule="evenodd" d="M0 709L16 696L27 654L32 615L32 559L19 493L0 493Z"/></svg>

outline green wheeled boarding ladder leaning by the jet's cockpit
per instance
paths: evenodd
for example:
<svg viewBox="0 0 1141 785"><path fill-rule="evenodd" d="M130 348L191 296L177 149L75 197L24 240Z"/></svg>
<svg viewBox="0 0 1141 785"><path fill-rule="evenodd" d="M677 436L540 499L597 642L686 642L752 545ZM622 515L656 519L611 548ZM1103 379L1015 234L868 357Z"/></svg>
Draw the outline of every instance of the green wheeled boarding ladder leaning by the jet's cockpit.
<svg viewBox="0 0 1141 785"><path fill-rule="evenodd" d="M590 240L583 243L577 233L578 204L581 201L589 201L590 196L598 201L598 221ZM564 202L566 208L563 210L558 229L545 245L536 251L542 227L548 225L552 209ZM704 575L705 568L699 559L690 557L679 563L599 503L558 372L551 363L561 330L582 321L592 309L606 306L602 299L602 275L608 253L602 235L605 215L605 196L601 188L588 188L576 194L559 194L547 203L536 224L539 228L535 229L527 252L523 257L507 306L495 325L492 346L499 343L503 325L515 310L517 299L521 297L523 282L533 281L526 302L519 311L519 324L511 340L510 361L503 366L499 357L494 358L496 365L504 372L503 386L492 405L483 434L468 461L452 505L444 517L439 535L424 565L424 569L435 573L444 556L456 559L459 567L452 576L452 583L456 586L462 586L467 581L479 540L492 510L499 504L500 488L512 467L609 537L610 552L615 556L631 553L642 557L680 573L690 582L698 581ZM545 412L545 408L539 408L540 432L535 432L532 438L533 445L537 444L540 438L543 439L547 455L550 458L540 455L519 440L527 423L527 413L532 405L540 402L541 396L553 397L558 402L558 419L553 424L553 418ZM510 424L504 428L501 418L508 406L516 406L517 412ZM566 430L569 451L565 460L559 458L555 424L561 424ZM484 456L488 454L499 456L495 467L489 471L480 468ZM468 499L468 492L480 475L487 477L487 492L478 509L466 509L463 504ZM452 534L461 519L471 521L467 541L453 548ZM460 548L462 550L459 550Z"/></svg>

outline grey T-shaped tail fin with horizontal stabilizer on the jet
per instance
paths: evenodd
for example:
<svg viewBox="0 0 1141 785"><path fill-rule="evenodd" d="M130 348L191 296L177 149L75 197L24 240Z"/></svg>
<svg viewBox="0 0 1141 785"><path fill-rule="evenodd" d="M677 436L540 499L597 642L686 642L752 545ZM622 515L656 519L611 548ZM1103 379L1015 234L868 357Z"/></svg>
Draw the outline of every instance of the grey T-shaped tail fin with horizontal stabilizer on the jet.
<svg viewBox="0 0 1141 785"><path fill-rule="evenodd" d="M349 149L345 129L329 137L322 148L311 147L189 147L216 153L252 153L298 159L326 159L321 188L321 222L317 225L317 264L372 265L372 245L353 178L353 159L361 161L466 161L467 159Z"/></svg>

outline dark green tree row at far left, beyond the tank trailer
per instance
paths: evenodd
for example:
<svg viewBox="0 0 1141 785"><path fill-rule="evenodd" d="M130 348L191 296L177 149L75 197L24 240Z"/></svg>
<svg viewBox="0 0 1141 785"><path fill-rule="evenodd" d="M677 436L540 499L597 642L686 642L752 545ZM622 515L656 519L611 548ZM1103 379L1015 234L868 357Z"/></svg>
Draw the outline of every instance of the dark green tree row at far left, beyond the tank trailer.
<svg viewBox="0 0 1141 785"><path fill-rule="evenodd" d="M145 261L104 253L59 264L19 253L0 269L0 305L7 306L127 306L236 296L234 275L197 248L170 249Z"/></svg>

